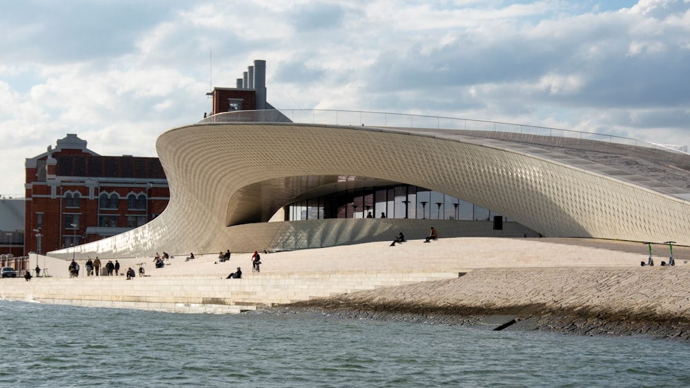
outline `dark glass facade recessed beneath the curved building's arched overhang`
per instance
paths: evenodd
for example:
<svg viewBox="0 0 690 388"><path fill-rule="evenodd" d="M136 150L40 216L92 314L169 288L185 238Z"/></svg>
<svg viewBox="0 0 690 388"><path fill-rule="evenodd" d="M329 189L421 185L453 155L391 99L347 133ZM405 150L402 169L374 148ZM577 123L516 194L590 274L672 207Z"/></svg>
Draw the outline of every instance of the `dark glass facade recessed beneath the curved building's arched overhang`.
<svg viewBox="0 0 690 388"><path fill-rule="evenodd" d="M490 221L499 215L452 195L404 184L353 188L287 208L290 221L366 217ZM504 221L509 220L504 217Z"/></svg>

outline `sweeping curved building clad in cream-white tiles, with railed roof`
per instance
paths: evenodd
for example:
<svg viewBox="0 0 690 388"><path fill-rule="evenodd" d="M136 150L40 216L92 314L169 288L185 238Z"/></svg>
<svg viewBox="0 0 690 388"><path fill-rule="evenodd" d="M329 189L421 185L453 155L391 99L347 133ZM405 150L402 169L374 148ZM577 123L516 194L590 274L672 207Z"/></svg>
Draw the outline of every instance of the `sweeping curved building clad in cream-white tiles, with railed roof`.
<svg viewBox="0 0 690 388"><path fill-rule="evenodd" d="M282 213L300 200L395 184L490 209L520 235L690 245L690 155L631 139L438 117L255 111L168 130L157 151L170 186L164 213L77 246L77 255L304 249L389 241L399 230L422 238L429 226L441 237L495 233L490 222L442 216L450 206L431 196L415 219L367 219L356 205L355 218Z"/></svg>

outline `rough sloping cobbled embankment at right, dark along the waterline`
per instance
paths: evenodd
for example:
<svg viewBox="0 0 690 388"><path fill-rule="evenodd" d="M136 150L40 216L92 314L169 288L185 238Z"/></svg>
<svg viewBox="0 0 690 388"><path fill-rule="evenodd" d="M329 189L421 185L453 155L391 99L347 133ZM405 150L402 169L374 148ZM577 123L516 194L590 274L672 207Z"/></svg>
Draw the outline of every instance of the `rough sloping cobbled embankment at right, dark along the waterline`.
<svg viewBox="0 0 690 388"><path fill-rule="evenodd" d="M690 339L690 267L476 269L293 304L337 316Z"/></svg>

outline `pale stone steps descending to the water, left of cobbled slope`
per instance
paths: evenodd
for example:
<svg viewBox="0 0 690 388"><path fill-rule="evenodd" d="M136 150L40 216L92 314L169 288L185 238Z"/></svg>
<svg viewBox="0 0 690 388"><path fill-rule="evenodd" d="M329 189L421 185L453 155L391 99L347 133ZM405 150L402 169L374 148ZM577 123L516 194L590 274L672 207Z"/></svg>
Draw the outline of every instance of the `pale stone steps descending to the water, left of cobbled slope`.
<svg viewBox="0 0 690 388"><path fill-rule="evenodd" d="M206 276L3 279L0 298L86 307L184 313L239 313L380 287L457 278L444 271L339 271Z"/></svg>

